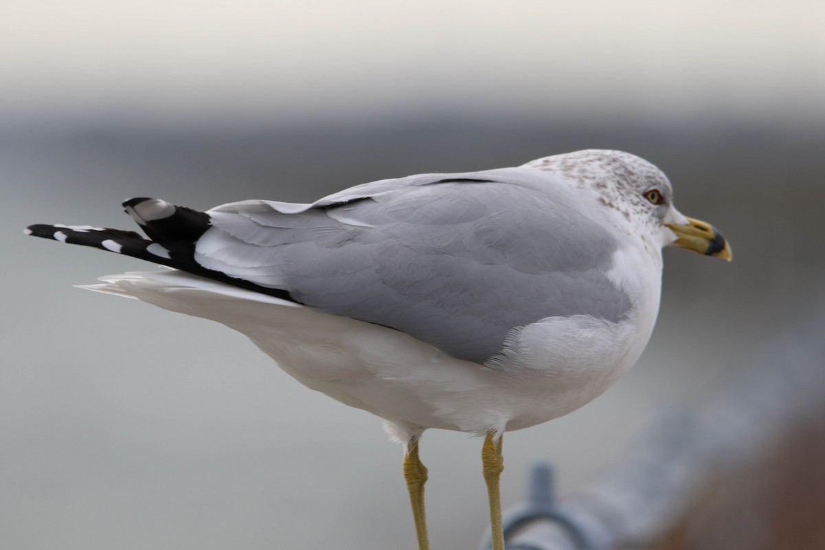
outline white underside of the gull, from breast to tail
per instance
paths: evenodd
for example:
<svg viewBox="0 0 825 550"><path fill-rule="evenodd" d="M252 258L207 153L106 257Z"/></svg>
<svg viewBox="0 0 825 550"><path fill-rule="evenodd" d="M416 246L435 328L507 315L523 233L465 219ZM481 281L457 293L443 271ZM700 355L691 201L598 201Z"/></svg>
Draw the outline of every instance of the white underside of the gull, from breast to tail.
<svg viewBox="0 0 825 550"><path fill-rule="evenodd" d="M386 419L395 434L442 428L483 435L563 416L629 369L653 328L652 318L640 326L639 312L619 323L552 317L524 327L501 356L479 365L400 331L178 271L106 280L93 289L242 332L299 382Z"/></svg>

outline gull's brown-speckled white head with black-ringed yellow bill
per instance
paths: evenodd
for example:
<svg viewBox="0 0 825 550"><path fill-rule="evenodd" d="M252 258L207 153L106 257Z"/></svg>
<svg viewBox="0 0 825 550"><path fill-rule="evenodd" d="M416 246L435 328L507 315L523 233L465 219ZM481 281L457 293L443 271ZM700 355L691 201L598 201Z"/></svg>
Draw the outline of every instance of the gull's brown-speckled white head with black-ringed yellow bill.
<svg viewBox="0 0 825 550"><path fill-rule="evenodd" d="M675 246L731 260L724 237L709 223L688 218L673 205L667 176L641 157L622 151L586 149L544 157L524 166L562 176L604 207L618 228L661 249Z"/></svg>

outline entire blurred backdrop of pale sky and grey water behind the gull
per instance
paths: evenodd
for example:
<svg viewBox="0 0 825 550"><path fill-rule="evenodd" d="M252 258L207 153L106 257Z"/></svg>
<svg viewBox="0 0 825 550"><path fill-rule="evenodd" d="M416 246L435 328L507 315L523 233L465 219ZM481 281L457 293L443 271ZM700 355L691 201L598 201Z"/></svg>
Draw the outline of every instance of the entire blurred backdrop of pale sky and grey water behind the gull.
<svg viewBox="0 0 825 550"><path fill-rule="evenodd" d="M0 547L414 548L402 449L228 328L73 289L150 268L24 237L120 201L311 201L416 172L617 148L727 264L665 251L615 388L506 436L504 505L575 491L675 403L822 311L822 2L0 3ZM480 441L431 431L435 548L487 524Z"/></svg>

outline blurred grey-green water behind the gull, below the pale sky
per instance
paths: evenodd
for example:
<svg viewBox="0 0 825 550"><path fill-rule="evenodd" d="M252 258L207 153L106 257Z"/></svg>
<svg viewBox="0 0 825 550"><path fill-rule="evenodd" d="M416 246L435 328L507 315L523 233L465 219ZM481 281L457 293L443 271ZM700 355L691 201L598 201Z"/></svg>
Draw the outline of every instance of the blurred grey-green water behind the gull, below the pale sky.
<svg viewBox="0 0 825 550"><path fill-rule="evenodd" d="M608 466L662 407L794 317L823 308L825 134L724 120L606 125L433 115L309 128L18 125L0 130L0 533L4 548L412 548L401 449L380 421L303 388L243 336L71 284L145 269L24 237L29 223L130 227L128 196L205 209L308 201L363 181L619 148L671 177L682 212L733 243L727 264L666 251L640 363L573 414L508 434L505 505L537 457L562 491ZM486 524L480 441L431 431L440 548Z"/></svg>

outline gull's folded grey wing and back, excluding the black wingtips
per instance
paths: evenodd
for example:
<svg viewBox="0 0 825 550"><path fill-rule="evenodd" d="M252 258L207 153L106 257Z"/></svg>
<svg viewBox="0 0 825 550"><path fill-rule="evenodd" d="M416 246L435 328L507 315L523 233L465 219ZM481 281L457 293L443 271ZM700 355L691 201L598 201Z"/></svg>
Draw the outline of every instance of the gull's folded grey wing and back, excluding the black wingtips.
<svg viewBox="0 0 825 550"><path fill-rule="evenodd" d="M605 275L615 237L577 201L530 168L378 181L315 204L245 201L210 210L196 261L483 363L514 327L628 310Z"/></svg>

